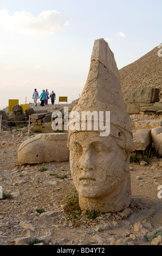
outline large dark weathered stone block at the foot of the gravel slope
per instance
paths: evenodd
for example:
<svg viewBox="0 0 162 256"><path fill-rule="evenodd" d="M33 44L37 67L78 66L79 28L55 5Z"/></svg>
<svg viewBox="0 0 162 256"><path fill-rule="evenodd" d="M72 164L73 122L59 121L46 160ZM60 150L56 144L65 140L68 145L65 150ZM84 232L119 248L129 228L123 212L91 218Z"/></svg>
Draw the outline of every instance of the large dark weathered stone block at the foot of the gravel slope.
<svg viewBox="0 0 162 256"><path fill-rule="evenodd" d="M126 97L127 103L154 103L159 102L159 88L143 87L132 90Z"/></svg>

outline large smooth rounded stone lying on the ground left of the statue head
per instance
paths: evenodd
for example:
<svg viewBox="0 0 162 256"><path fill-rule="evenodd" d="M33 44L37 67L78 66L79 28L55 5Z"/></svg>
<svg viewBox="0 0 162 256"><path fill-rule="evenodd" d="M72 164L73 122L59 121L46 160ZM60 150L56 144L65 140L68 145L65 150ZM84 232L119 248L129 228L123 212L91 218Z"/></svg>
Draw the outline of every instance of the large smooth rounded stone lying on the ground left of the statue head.
<svg viewBox="0 0 162 256"><path fill-rule="evenodd" d="M18 148L17 157L21 164L68 161L67 133L41 133L27 139Z"/></svg>

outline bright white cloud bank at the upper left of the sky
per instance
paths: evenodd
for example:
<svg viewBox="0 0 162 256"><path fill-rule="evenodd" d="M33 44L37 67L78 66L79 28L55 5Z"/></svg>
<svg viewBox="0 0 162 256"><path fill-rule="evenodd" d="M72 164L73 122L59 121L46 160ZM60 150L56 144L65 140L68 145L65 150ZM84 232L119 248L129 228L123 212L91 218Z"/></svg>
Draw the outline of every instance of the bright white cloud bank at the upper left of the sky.
<svg viewBox="0 0 162 256"><path fill-rule="evenodd" d="M4 28L23 34L47 35L63 31L63 28L68 25L68 17L56 10L42 11L35 17L26 11L15 11L13 15L9 15L9 10L2 9L0 24Z"/></svg>

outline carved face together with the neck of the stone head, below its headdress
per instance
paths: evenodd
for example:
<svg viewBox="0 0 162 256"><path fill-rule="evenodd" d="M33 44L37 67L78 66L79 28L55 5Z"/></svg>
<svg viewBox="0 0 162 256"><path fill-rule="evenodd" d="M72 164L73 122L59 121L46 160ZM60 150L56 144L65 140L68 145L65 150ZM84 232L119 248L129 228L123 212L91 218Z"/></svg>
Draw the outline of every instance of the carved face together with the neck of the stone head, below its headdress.
<svg viewBox="0 0 162 256"><path fill-rule="evenodd" d="M111 135L80 131L70 136L70 169L82 210L116 212L129 205L129 153Z"/></svg>

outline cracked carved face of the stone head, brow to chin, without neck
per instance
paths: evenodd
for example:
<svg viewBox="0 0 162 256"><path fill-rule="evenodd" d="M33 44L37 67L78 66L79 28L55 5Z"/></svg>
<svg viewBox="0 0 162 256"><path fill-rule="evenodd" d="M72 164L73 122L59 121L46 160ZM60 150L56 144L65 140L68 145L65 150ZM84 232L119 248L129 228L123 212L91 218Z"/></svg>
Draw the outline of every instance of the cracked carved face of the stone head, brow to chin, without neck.
<svg viewBox="0 0 162 256"><path fill-rule="evenodd" d="M105 197L120 188L128 157L116 139L81 131L70 136L69 149L73 181L82 197Z"/></svg>

